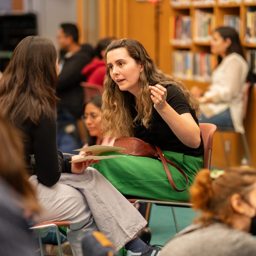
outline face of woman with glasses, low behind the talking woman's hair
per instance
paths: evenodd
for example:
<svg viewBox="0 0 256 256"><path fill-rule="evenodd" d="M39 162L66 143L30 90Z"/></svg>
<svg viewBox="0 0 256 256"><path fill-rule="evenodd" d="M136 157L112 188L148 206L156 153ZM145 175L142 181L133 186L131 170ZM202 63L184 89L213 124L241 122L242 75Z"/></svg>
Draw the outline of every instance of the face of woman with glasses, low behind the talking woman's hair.
<svg viewBox="0 0 256 256"><path fill-rule="evenodd" d="M102 133L100 126L101 110L96 107L92 102L88 103L84 109L85 126L91 136L99 137Z"/></svg>

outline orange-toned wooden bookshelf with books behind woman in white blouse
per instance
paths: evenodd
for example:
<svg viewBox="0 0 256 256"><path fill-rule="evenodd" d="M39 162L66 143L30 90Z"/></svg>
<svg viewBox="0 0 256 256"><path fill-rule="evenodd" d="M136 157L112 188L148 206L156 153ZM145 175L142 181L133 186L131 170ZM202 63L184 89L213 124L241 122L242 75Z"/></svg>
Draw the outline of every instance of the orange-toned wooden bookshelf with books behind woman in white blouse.
<svg viewBox="0 0 256 256"><path fill-rule="evenodd" d="M177 25L177 17L191 18L191 38L190 43L187 39L186 42L175 43L175 26ZM209 77L204 76L203 79L198 79L198 68L195 68L191 58L195 59L200 55L209 55L211 53L210 48L210 33L208 30L213 30L219 26L232 26L236 28L239 33L240 40L243 46L245 57L251 67L251 70L256 74L256 1L245 0L191 0L183 2L182 0L169 1L169 47L170 47L170 71L172 75L180 78L186 86L191 88L193 85L197 85L201 89L205 90L209 85ZM201 29L201 31L198 31ZM187 35L189 33L187 32ZM181 36L182 37L182 36ZM188 55L188 56L186 56ZM193 57L191 57L193 56ZM197 57L196 57L197 56ZM177 60L184 59L185 63L176 63ZM212 63L208 63L210 66L217 65L217 60L214 60L214 56L210 57ZM216 56L215 56L216 58ZM178 61L178 62L179 62ZM216 62L215 62L216 61ZM209 59L208 59L209 62ZM205 65L205 61L202 64ZM192 70L188 70L192 68ZM213 67L207 67L212 70ZM195 70L196 69L196 70ZM177 70L179 72L177 72ZM181 70L181 71L180 71ZM180 74L182 73L183 74ZM196 72L197 74L196 74ZM209 72L209 70L208 70ZM254 147L256 141L256 135L254 135L253 129L256 129L255 116L256 109L256 88L254 87L249 97L249 105L247 116L244 125L247 136L250 136L249 146L254 165L256 164L256 149ZM253 133L253 134L252 134ZM244 155L243 143L239 134L224 133L224 139L231 141L231 150L229 152L229 159L232 165L239 165L241 158ZM252 138L253 137L253 138ZM255 138L254 138L255 137ZM249 138L249 137L248 137ZM212 164L213 166L225 168L223 149L221 147L220 136L216 132L214 139Z"/></svg>

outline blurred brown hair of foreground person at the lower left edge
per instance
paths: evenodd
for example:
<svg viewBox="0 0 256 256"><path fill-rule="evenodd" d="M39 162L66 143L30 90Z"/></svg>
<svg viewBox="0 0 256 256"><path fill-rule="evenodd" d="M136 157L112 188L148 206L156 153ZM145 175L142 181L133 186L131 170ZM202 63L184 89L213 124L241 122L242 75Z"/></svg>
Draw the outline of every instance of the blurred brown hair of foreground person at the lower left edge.
<svg viewBox="0 0 256 256"><path fill-rule="evenodd" d="M34 188L28 181L23 144L19 135L11 124L0 116L0 177L22 196L21 201L19 198L17 203L25 212L38 212L40 207Z"/></svg>

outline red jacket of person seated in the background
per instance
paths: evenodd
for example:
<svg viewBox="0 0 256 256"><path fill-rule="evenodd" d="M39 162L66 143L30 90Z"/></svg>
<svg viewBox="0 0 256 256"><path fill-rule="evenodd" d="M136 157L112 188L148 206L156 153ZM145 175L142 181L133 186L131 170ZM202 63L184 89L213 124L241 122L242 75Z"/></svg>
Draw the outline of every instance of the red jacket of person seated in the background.
<svg viewBox="0 0 256 256"><path fill-rule="evenodd" d="M89 64L84 66L82 75L86 76L87 83L103 85L106 70L107 67L104 60L93 59Z"/></svg>

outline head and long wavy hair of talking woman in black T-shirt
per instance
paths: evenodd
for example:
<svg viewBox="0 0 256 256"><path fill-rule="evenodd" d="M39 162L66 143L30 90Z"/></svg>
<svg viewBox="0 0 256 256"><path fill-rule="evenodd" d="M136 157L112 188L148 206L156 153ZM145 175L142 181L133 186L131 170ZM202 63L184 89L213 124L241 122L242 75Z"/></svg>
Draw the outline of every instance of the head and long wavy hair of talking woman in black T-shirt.
<svg viewBox="0 0 256 256"><path fill-rule="evenodd" d="M104 79L101 123L104 134L112 138L132 137L135 122L149 128L153 108L149 85L177 86L199 116L198 102L187 87L173 76L164 74L140 42L121 39L109 44L105 62L108 68ZM138 112L135 118L130 111L133 98Z"/></svg>

